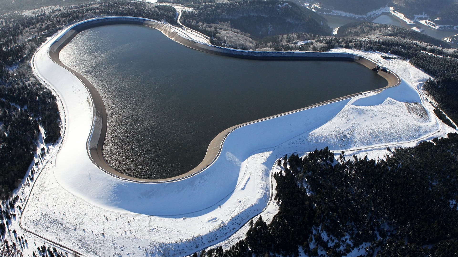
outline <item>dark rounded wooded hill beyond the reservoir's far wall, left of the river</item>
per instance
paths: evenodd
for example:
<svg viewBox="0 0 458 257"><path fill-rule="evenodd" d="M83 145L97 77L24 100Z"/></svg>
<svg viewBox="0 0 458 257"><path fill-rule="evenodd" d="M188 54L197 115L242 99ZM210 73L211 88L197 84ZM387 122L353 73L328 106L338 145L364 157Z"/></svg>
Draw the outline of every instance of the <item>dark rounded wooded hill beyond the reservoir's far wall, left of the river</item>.
<svg viewBox="0 0 458 257"><path fill-rule="evenodd" d="M181 23L213 38L213 44L255 49L266 36L293 32L330 35L326 20L301 6L284 1L236 1L185 5ZM239 42L237 42L239 41Z"/></svg>

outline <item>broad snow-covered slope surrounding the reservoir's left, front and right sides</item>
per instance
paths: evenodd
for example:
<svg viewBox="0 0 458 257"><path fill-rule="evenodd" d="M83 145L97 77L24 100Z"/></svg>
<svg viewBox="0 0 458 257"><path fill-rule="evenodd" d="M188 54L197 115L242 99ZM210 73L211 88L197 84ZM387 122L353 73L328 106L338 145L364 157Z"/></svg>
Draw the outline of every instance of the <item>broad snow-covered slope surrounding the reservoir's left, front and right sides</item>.
<svg viewBox="0 0 458 257"><path fill-rule="evenodd" d="M435 116L421 90L429 75L405 60L338 48L332 51L375 60L401 83L235 129L216 161L192 177L160 183L120 179L99 170L87 154L93 105L82 82L49 59L49 45L60 34L37 51L32 64L62 99L65 136L60 151L41 165L11 228L26 233L20 221L36 241L41 239L33 234L85 256L185 256L217 243L231 246L252 217L261 213L268 222L278 211L271 201L272 175L285 154L329 146L376 159L387 147L414 146L455 131ZM25 198L29 191L23 185L15 193ZM25 256L33 249L24 250Z"/></svg>

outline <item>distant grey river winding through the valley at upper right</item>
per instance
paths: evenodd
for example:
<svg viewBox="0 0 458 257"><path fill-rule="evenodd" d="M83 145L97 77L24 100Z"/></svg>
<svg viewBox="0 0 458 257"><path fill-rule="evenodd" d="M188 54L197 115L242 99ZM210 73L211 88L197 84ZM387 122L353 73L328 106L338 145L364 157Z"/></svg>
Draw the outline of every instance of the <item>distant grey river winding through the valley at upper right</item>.
<svg viewBox="0 0 458 257"><path fill-rule="evenodd" d="M341 27L345 24L355 22L355 21L362 21L362 20L358 20L354 18L349 18L346 16L329 15L329 14L320 14L320 15L322 15L323 17L327 19L327 24L331 28ZM426 35L429 35L431 37L436 37L441 40L443 40L445 37L450 37L450 36L454 36L458 34L458 30L438 30L438 29L433 29L431 27L425 26L421 23L410 25L410 24L407 24L405 21L402 21L398 19L397 17L391 14L388 14L388 13L377 16L375 19L372 20L372 22L388 24L388 25L396 25L396 26L401 26L401 27L405 27L408 29L411 29L417 26L423 29L422 33L425 33ZM458 47L457 44L452 44L452 46L455 48Z"/></svg>

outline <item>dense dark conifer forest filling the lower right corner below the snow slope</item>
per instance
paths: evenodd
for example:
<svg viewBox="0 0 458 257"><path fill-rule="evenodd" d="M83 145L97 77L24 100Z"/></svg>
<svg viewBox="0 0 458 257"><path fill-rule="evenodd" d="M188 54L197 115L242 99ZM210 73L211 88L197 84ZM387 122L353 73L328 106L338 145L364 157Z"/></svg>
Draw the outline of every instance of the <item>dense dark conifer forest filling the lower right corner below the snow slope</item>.
<svg viewBox="0 0 458 257"><path fill-rule="evenodd" d="M453 256L458 252L458 134L385 159L327 148L285 156L270 224L250 223L244 240L207 256ZM381 156L383 157L383 156ZM357 249L360 251L357 251ZM202 255L201 255L202 256ZM204 254L205 256L205 254Z"/></svg>

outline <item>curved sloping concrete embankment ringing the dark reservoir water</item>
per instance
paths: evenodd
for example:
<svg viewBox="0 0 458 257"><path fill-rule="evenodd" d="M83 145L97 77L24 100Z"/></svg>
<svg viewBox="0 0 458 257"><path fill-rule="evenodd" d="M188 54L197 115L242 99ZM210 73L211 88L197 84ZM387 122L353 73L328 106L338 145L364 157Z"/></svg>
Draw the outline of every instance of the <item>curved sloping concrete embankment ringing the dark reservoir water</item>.
<svg viewBox="0 0 458 257"><path fill-rule="evenodd" d="M202 162L196 166L191 171L188 171L180 176L167 178L167 179L138 179L135 177L126 176L116 170L114 170L108 163L105 161L102 153L104 139L106 135L106 128L107 128L107 114L106 109L104 106L104 102L102 97L95 89L95 87L82 75L77 73L75 70L65 66L59 59L59 53L62 48L65 47L67 43L71 41L73 37L76 36L79 32L86 30L91 27L103 26L103 25L110 25L110 24L136 24L136 25L143 25L147 27L153 27L158 29L159 31L163 32L164 35L171 38L175 42L188 46L190 48L194 48L196 50L200 50L203 52L211 53L211 54L220 54L235 58L245 58L245 59L261 59L261 60L342 60L342 61L354 61L360 64L365 65L367 68L374 70L377 72L378 75L381 75L385 78L388 82L386 87L397 86L400 83L399 77L394 74L393 72L387 70L386 68L380 67L379 64L376 64L374 61L370 59L366 59L360 55L351 54L351 53L328 53L328 52L258 52L258 51L247 51L247 50L238 50L232 48L224 48L218 47L214 45L209 45L206 43L196 42L191 38L186 38L183 34L180 34L176 31L176 29L171 28L169 25L164 24L163 22L149 20L145 18L138 18L138 17L102 17L91 19L87 21L82 21L77 23L76 25L67 29L67 31L62 34L57 40L50 46L49 48L49 57L59 64L60 66L64 67L65 69L69 70L72 74L78 77L82 83L86 86L89 94L93 100L94 106L94 119L93 119L93 128L92 133L87 140L87 150L88 154L91 157L91 160L94 164L96 164L99 168L108 172L116 177L120 177L127 180L139 181L139 182L164 182L164 181L173 181L178 179L183 179L185 177L189 177L193 174L196 174L199 171L202 171L207 166L209 166L216 158L218 157L221 146L223 144L224 139L226 136L234 129L243 126L248 123L253 123L256 121L260 121L267 118L272 118L275 116L284 115L285 112L278 115L274 115L267 118L262 118L256 121L243 123L239 125L235 125L229 129L224 130L220 134L218 134L210 143L207 148L207 153L202 160ZM361 93L352 94L349 96L344 96L338 99L329 100L326 102L334 102L338 100L342 100L344 98L349 98L353 96L360 95ZM314 107L317 105L321 105L326 102L321 102L314 104L312 106L308 106L305 108L301 108L299 110L303 110L306 108Z"/></svg>

